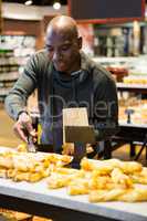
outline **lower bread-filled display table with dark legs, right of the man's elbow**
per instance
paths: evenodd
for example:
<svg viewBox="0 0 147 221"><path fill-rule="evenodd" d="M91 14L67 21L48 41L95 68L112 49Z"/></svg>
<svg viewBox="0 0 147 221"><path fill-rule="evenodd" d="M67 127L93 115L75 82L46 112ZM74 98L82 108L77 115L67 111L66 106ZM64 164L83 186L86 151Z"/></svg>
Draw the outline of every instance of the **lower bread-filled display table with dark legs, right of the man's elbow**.
<svg viewBox="0 0 147 221"><path fill-rule="evenodd" d="M147 85L117 83L119 131L113 137L113 148L130 145L130 157L137 160L146 148L147 159ZM144 98L143 98L144 96ZM136 145L140 150L136 152Z"/></svg>

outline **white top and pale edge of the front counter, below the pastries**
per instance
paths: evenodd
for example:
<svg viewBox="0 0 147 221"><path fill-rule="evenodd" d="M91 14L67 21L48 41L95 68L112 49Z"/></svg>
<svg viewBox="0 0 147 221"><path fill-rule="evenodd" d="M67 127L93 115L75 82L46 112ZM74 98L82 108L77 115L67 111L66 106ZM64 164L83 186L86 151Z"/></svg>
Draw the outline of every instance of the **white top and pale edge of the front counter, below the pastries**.
<svg viewBox="0 0 147 221"><path fill-rule="evenodd" d="M20 198L22 200L31 200L33 202L56 206L61 208L72 209L75 211L107 217L124 221L146 221L147 220L147 202L103 202L90 203L87 196L69 196L66 189L50 190L46 187L46 180L36 183L28 183L25 181L13 182L10 179L0 179L0 194Z"/></svg>

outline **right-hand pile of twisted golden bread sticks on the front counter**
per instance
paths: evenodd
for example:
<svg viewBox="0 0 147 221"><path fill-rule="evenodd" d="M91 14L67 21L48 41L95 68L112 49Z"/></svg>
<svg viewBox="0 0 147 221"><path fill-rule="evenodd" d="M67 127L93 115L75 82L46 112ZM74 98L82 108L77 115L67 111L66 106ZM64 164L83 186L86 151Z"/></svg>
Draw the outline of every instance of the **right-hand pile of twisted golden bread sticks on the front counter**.
<svg viewBox="0 0 147 221"><path fill-rule="evenodd" d="M51 172L48 187L66 187L71 196L88 194L90 202L147 201L147 168L136 161L83 158L81 170L59 168Z"/></svg>

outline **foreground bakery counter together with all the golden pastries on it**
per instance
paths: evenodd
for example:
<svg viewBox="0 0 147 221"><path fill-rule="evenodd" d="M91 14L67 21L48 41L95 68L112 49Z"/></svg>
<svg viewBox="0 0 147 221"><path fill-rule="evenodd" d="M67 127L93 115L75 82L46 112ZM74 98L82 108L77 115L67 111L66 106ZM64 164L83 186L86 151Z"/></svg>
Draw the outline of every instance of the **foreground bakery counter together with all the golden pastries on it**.
<svg viewBox="0 0 147 221"><path fill-rule="evenodd" d="M20 150L0 147L1 207L61 221L146 220L140 164L83 158L81 169L71 169L70 156Z"/></svg>

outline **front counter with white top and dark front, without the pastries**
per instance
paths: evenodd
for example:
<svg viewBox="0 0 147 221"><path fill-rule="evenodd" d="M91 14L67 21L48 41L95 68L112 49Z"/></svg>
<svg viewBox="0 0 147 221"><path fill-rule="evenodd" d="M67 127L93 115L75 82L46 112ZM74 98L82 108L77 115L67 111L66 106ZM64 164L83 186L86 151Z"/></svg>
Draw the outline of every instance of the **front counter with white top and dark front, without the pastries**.
<svg viewBox="0 0 147 221"><path fill-rule="evenodd" d="M65 188L51 190L46 180L35 183L0 178L0 207L52 218L54 221L146 221L147 202L91 203L87 196L69 196Z"/></svg>

